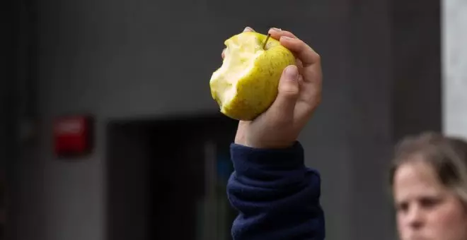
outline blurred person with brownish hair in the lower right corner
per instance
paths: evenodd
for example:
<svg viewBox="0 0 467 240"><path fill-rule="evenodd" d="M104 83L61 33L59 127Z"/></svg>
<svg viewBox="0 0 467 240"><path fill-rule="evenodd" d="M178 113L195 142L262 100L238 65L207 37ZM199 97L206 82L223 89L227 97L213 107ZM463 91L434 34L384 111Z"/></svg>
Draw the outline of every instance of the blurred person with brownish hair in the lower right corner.
<svg viewBox="0 0 467 240"><path fill-rule="evenodd" d="M391 186L400 240L467 239L467 143L438 133L396 148Z"/></svg>

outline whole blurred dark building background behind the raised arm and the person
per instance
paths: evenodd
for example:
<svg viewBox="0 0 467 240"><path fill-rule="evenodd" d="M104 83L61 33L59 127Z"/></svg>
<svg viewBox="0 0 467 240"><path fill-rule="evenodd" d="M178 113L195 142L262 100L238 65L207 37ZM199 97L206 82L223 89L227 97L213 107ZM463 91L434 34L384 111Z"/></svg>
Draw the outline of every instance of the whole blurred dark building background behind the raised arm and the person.
<svg viewBox="0 0 467 240"><path fill-rule="evenodd" d="M428 130L467 137L464 0L1 9L0 239L230 239L236 121L209 78L247 25L291 30L322 56L323 103L300 140L322 174L327 239L395 239L393 145Z"/></svg>

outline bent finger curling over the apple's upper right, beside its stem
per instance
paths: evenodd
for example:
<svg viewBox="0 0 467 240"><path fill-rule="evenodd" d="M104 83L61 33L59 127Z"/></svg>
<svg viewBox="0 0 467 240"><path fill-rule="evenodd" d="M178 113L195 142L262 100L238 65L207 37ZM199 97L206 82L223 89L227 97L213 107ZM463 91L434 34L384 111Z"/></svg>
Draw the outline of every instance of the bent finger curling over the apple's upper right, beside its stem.
<svg viewBox="0 0 467 240"><path fill-rule="evenodd" d="M298 38L281 36L279 39L282 46L287 47L290 51L294 52L296 56L304 64L304 67L313 64L318 64L321 61L321 56L317 54L308 44Z"/></svg>

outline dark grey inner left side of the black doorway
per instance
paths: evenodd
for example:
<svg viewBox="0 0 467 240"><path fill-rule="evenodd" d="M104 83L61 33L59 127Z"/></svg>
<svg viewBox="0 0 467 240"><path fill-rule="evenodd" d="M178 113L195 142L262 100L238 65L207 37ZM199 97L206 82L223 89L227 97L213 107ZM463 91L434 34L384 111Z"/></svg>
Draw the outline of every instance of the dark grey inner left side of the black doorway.
<svg viewBox="0 0 467 240"><path fill-rule="evenodd" d="M148 239L147 129L108 124L107 239Z"/></svg>

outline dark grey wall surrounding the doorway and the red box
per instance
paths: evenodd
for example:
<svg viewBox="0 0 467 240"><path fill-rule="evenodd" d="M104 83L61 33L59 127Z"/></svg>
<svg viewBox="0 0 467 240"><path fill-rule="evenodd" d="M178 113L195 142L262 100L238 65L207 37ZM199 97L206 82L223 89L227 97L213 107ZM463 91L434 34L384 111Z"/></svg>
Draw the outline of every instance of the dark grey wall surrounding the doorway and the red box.
<svg viewBox="0 0 467 240"><path fill-rule="evenodd" d="M17 239L105 239L105 124L216 112L222 42L250 25L294 31L323 56L323 104L301 135L323 177L328 239L393 239L384 173L393 145L393 13L388 0L47 0L39 6L39 159L22 160ZM248 7L246 7L248 6ZM278 7L280 6L280 7ZM241 16L241 14L243 16ZM52 155L51 121L97 116L96 150Z"/></svg>

